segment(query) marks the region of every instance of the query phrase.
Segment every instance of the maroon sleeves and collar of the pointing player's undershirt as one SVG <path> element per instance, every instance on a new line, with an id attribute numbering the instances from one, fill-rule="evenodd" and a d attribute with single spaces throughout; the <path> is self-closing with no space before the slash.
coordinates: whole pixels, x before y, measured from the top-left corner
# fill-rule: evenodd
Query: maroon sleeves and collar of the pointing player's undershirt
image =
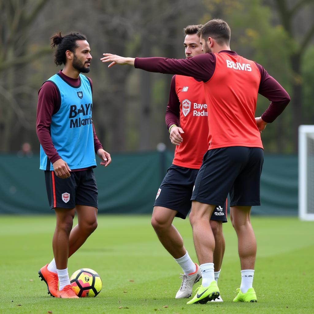
<path id="1" fill-rule="evenodd" d="M 237 56 L 235 51 L 223 50 L 231 56 Z M 284 110 L 290 101 L 288 93 L 284 88 L 272 77 L 267 71 L 258 63 L 255 62 L 261 74 L 261 81 L 259 84 L 258 93 L 268 98 L 271 101 L 267 110 L 263 113 L 262 119 L 265 122 L 273 122 Z M 195 79 L 200 79 L 203 82 L 208 82 L 214 74 L 216 67 L 216 57 L 213 53 L 205 53 L 193 58 L 187 59 L 168 59 L 161 57 L 152 58 L 135 58 L 135 68 L 140 68 L 149 72 L 159 72 L 166 74 L 181 74 L 192 76 Z M 171 109 L 167 108 L 167 126 L 168 117 L 171 118 Z M 175 124 L 175 123 L 172 123 Z"/>

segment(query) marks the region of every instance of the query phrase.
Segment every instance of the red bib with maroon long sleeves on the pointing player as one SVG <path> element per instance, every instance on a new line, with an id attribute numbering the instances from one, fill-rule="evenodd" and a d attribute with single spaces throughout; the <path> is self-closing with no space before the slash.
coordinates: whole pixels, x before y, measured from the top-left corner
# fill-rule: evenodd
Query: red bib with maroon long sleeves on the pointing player
<path id="1" fill-rule="evenodd" d="M 192 76 L 204 82 L 208 104 L 209 149 L 229 146 L 263 148 L 254 111 L 257 93 L 271 103 L 263 113 L 273 122 L 290 101 L 284 88 L 258 63 L 235 51 L 204 53 L 187 59 L 135 58 L 135 68 Z"/>

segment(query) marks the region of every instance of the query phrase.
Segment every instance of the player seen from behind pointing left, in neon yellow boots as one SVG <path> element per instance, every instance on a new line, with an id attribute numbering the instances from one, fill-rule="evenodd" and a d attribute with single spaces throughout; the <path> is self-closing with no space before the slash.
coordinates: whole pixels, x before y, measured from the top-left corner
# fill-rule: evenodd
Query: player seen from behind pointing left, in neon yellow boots
<path id="1" fill-rule="evenodd" d="M 208 105 L 208 151 L 192 193 L 190 222 L 202 284 L 187 304 L 215 299 L 219 288 L 214 280 L 215 240 L 209 217 L 230 193 L 230 217 L 238 236 L 241 286 L 234 302 L 257 302 L 252 287 L 256 239 L 250 222 L 252 206 L 260 205 L 260 176 L 263 166 L 261 132 L 288 105 L 283 87 L 259 64 L 230 50 L 230 27 L 213 19 L 198 32 L 205 54 L 189 59 L 125 58 L 105 53 L 101 60 L 134 65 L 146 71 L 192 76 L 203 81 Z M 255 118 L 257 94 L 271 103 Z M 214 205 L 215 204 L 215 205 Z"/>

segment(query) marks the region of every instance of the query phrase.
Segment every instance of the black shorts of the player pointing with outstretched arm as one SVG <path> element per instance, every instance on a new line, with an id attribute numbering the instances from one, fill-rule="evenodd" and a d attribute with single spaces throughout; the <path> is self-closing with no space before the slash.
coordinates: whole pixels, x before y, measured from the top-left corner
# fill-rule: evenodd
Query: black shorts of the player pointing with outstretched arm
<path id="1" fill-rule="evenodd" d="M 232 146 L 210 149 L 195 180 L 192 200 L 222 206 L 228 193 L 231 206 L 258 206 L 264 151 Z"/>

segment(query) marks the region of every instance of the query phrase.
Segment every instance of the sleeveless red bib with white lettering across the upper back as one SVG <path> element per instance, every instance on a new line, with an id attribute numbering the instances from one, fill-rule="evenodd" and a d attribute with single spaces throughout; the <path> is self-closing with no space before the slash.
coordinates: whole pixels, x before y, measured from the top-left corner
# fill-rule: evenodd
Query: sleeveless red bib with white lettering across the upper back
<path id="1" fill-rule="evenodd" d="M 254 61 L 225 52 L 215 53 L 213 76 L 204 83 L 209 103 L 208 149 L 229 146 L 263 148 L 255 122 L 261 74 Z"/>

